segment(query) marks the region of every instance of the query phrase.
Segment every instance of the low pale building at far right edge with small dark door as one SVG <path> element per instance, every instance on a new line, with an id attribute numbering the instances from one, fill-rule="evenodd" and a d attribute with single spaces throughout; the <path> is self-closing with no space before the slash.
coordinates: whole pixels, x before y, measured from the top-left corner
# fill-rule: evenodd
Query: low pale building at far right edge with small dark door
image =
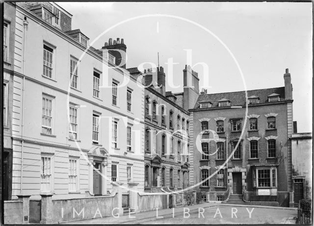
<path id="1" fill-rule="evenodd" d="M 312 199 L 312 133 L 293 133 L 290 137 L 292 151 L 292 187 L 294 203 Z"/>

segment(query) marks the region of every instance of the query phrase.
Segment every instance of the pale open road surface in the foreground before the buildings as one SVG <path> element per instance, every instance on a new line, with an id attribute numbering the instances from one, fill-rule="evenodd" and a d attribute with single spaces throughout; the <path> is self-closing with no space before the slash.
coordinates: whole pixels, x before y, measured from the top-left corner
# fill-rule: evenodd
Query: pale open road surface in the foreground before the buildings
<path id="1" fill-rule="evenodd" d="M 295 224 L 296 217 L 297 208 L 204 202 L 63 224 Z"/>

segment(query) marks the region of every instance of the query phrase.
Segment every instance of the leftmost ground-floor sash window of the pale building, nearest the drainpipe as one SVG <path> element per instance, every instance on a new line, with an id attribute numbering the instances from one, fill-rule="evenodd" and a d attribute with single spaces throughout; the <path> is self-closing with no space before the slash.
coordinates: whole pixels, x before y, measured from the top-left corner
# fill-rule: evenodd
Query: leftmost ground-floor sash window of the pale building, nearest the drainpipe
<path id="1" fill-rule="evenodd" d="M 47 184 L 49 184 L 49 189 Z M 40 157 L 40 191 L 53 191 L 53 155 L 42 154 Z"/>

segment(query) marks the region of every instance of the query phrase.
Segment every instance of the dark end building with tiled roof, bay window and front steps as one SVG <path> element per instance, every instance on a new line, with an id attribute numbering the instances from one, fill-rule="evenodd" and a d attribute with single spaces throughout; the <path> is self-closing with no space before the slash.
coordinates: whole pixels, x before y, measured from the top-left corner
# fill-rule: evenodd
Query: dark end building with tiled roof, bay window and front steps
<path id="1" fill-rule="evenodd" d="M 292 86 L 288 69 L 285 87 L 207 94 L 194 109 L 194 184 L 201 191 L 292 190 Z M 247 114 L 246 114 L 247 110 Z"/>

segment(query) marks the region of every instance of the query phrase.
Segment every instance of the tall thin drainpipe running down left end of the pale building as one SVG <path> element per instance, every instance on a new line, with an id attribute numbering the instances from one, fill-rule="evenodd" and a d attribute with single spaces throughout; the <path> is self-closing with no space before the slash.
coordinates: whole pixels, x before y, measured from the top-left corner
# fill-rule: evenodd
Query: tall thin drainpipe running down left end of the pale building
<path id="1" fill-rule="evenodd" d="M 21 185 L 20 185 L 20 193 L 23 193 L 23 157 L 24 157 L 24 103 L 25 103 L 25 55 L 26 55 L 26 30 L 28 26 L 28 21 L 26 20 L 26 17 L 24 17 L 23 21 L 24 25 L 24 48 L 23 48 L 23 87 L 22 87 L 22 131 L 21 131 L 21 137 L 22 137 L 22 147 L 21 147 Z"/>

